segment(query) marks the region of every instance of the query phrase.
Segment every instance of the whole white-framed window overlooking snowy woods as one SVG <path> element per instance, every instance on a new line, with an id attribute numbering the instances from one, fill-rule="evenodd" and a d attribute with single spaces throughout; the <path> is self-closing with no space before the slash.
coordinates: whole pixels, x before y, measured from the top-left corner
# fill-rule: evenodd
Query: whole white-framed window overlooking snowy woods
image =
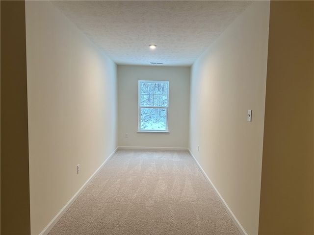
<path id="1" fill-rule="evenodd" d="M 138 131 L 168 131 L 168 81 L 138 81 Z"/>

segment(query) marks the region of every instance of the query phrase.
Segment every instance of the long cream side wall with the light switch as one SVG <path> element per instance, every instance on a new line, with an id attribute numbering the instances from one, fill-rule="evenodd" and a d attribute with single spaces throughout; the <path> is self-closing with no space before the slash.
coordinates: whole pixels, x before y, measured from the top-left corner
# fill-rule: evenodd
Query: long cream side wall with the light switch
<path id="1" fill-rule="evenodd" d="M 259 223 L 268 27 L 269 1 L 253 2 L 191 67 L 189 149 L 248 234 Z"/>

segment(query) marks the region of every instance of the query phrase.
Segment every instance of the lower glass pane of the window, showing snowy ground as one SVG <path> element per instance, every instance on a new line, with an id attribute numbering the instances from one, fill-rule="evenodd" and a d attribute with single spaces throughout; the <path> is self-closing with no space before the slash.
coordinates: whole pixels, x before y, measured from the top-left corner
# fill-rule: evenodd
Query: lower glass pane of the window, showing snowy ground
<path id="1" fill-rule="evenodd" d="M 166 109 L 141 108 L 141 130 L 166 130 Z"/>

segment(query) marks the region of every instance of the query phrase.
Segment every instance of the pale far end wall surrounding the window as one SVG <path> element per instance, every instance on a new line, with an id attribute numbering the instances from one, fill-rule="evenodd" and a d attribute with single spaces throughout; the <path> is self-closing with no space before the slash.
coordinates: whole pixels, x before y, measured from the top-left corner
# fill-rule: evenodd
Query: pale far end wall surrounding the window
<path id="1" fill-rule="evenodd" d="M 138 80 L 169 81 L 170 134 L 137 133 Z M 118 145 L 187 148 L 189 86 L 190 67 L 118 65 Z"/>

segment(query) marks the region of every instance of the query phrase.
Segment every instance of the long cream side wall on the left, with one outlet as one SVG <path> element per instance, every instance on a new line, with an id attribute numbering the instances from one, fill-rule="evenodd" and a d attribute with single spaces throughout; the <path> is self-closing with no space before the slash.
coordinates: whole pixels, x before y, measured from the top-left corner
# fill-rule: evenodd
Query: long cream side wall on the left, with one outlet
<path id="1" fill-rule="evenodd" d="M 31 234 L 39 234 L 117 146 L 116 65 L 50 1 L 26 1 L 26 54 Z"/>

